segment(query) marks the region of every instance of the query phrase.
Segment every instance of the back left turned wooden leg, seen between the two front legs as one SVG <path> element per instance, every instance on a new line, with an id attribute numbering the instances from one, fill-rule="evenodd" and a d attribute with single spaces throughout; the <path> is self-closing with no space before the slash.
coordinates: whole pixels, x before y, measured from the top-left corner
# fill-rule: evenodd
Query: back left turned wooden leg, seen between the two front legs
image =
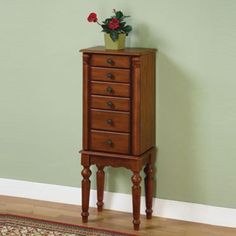
<path id="1" fill-rule="evenodd" d="M 102 211 L 103 208 L 103 194 L 104 194 L 104 176 L 105 173 L 103 171 L 104 166 L 97 165 L 97 207 L 98 211 Z"/>

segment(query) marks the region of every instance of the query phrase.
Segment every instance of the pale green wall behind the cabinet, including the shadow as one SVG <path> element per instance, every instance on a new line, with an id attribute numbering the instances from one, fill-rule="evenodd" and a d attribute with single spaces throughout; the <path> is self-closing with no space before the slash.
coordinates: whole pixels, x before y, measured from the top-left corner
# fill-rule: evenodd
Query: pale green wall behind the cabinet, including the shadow
<path id="1" fill-rule="evenodd" d="M 155 195 L 236 208 L 235 0 L 0 0 L 0 177 L 80 186 L 78 51 L 103 44 L 88 13 L 113 8 L 128 46 L 159 49 Z M 108 168 L 107 190 L 130 176 Z"/>

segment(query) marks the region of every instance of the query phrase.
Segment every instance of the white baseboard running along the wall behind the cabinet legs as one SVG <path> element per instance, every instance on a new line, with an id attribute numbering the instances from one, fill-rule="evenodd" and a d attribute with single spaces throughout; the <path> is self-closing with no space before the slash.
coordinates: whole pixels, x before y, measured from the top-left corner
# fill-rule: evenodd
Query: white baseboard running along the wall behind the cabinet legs
<path id="1" fill-rule="evenodd" d="M 0 178 L 0 195 L 81 205 L 81 189 L 53 184 L 34 183 Z M 104 207 L 132 212 L 131 195 L 104 193 Z M 90 206 L 96 207 L 96 191 L 91 190 Z M 141 214 L 145 200 L 141 198 Z M 236 228 L 236 209 L 154 198 L 153 215 L 177 220 Z"/>

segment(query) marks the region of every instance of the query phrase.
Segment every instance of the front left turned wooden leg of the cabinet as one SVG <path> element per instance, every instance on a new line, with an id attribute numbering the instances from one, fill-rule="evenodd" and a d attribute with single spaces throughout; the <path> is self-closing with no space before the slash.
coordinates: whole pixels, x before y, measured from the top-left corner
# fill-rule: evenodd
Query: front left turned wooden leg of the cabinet
<path id="1" fill-rule="evenodd" d="M 89 177 L 91 175 L 91 170 L 89 166 L 84 166 L 84 169 L 81 172 L 83 176 L 82 180 L 82 221 L 84 223 L 88 222 L 88 208 L 89 208 L 89 194 L 90 194 L 90 180 Z"/>

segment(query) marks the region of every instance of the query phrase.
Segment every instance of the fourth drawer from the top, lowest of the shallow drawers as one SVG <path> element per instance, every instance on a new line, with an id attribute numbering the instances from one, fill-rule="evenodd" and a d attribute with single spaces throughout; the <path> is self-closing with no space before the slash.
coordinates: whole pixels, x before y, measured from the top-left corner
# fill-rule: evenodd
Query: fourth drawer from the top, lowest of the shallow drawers
<path id="1" fill-rule="evenodd" d="M 130 111 L 130 99 L 91 95 L 90 107 L 114 111 Z"/>

